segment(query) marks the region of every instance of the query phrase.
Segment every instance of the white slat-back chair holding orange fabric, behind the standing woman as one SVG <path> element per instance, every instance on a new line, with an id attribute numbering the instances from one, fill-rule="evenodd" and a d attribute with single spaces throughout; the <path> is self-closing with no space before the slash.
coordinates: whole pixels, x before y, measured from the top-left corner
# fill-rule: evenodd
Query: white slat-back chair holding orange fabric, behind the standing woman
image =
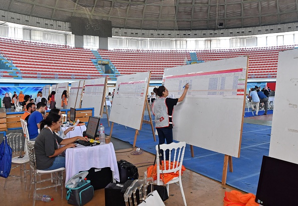
<path id="1" fill-rule="evenodd" d="M 180 191 L 182 194 L 182 198 L 183 198 L 183 202 L 184 205 L 186 204 L 186 199 L 185 199 L 185 195 L 184 195 L 184 191 L 183 191 L 183 187 L 182 187 L 182 180 L 181 180 L 181 169 L 182 169 L 182 163 L 183 163 L 183 158 L 184 158 L 184 151 L 185 151 L 185 146 L 186 146 L 186 142 L 182 141 L 182 142 L 172 142 L 170 144 L 160 144 L 160 148 L 161 150 L 163 150 L 164 153 L 164 157 L 165 159 L 162 160 L 163 165 L 166 165 L 166 150 L 169 150 L 169 159 L 171 159 L 171 161 L 173 162 L 173 165 L 169 164 L 169 166 L 165 166 L 165 168 L 162 170 L 160 167 L 160 157 L 159 157 L 159 147 L 158 145 L 156 145 L 156 151 L 157 151 L 157 158 L 156 158 L 156 162 L 157 162 L 157 180 L 154 181 L 154 183 L 157 183 L 158 185 L 163 185 L 164 182 L 163 180 L 160 178 L 160 175 L 162 173 L 170 173 L 170 172 L 179 172 L 179 176 L 178 177 L 174 177 L 172 180 L 170 180 L 166 185 L 167 185 L 167 190 L 168 190 L 168 195 L 169 195 L 169 184 L 171 183 L 176 183 L 179 181 L 179 187 L 180 187 Z M 174 151 L 173 151 L 174 150 Z M 179 163 L 179 165 L 178 165 Z M 147 171 L 145 171 L 145 178 L 147 178 Z"/>

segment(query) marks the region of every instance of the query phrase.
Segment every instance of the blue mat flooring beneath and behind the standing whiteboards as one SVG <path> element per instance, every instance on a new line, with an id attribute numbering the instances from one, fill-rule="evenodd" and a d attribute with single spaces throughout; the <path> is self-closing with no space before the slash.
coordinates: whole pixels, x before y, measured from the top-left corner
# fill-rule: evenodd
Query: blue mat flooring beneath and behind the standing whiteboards
<path id="1" fill-rule="evenodd" d="M 105 133 L 110 134 L 107 119 L 102 118 Z M 133 144 L 135 129 L 114 123 L 112 136 Z M 243 123 L 240 158 L 232 157 L 233 172 L 227 173 L 227 184 L 245 192 L 256 193 L 263 155 L 269 154 L 271 126 Z M 136 146 L 155 154 L 158 144 L 153 139 L 151 126 L 143 124 L 136 139 Z M 183 164 L 186 168 L 221 182 L 224 154 L 194 146 L 191 157 L 190 145 L 185 149 Z M 154 157 L 152 159 L 154 161 Z"/>

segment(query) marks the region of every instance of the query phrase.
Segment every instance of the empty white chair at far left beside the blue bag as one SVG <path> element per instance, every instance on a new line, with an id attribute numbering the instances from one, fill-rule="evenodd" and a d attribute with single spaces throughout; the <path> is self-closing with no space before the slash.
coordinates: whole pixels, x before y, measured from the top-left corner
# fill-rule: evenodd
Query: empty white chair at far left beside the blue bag
<path id="1" fill-rule="evenodd" d="M 27 191 L 27 182 L 26 182 L 27 178 L 26 177 L 30 170 L 26 169 L 26 163 L 29 162 L 29 156 L 25 155 L 22 158 L 19 158 L 19 156 L 22 156 L 22 133 L 9 133 L 7 135 L 7 141 L 13 150 L 12 169 L 20 167 L 20 175 L 10 174 L 5 180 L 4 189 L 6 189 L 7 181 L 9 179 L 9 177 L 21 178 L 21 181 L 23 181 L 23 177 L 24 177 L 25 190 Z M 23 176 L 23 174 L 24 174 L 24 176 Z"/>

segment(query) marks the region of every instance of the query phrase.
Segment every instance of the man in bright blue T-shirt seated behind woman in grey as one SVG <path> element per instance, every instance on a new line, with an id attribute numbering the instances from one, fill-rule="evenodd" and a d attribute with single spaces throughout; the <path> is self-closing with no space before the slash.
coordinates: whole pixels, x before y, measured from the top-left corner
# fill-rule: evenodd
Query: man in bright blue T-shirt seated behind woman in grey
<path id="1" fill-rule="evenodd" d="M 38 135 L 38 129 L 40 128 L 40 122 L 44 119 L 42 113 L 46 110 L 46 104 L 38 102 L 36 105 L 36 111 L 32 112 L 28 118 L 27 126 L 30 140 L 35 140 Z"/>

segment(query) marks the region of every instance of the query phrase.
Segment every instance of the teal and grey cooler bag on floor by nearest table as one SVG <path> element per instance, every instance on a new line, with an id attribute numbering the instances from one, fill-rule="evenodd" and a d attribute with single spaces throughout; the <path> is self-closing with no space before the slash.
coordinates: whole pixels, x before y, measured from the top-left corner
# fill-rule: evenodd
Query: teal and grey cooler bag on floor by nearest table
<path id="1" fill-rule="evenodd" d="M 72 205 L 81 206 L 90 201 L 94 195 L 93 186 L 90 183 L 90 180 L 87 180 L 85 184 L 79 187 L 75 187 L 76 183 L 79 182 L 79 177 L 81 176 L 84 179 L 88 174 L 88 171 L 82 171 L 71 177 L 66 183 L 66 200 L 67 203 Z"/>

